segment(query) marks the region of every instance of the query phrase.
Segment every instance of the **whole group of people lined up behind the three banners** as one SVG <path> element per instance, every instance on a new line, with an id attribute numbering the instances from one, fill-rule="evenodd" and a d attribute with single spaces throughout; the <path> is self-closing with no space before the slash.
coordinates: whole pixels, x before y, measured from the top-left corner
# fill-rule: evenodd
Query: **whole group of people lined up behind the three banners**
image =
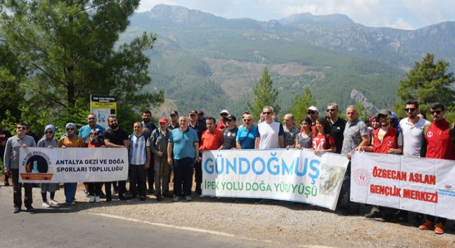
<path id="1" fill-rule="evenodd" d="M 430 106 L 432 121 L 418 116 L 418 102 L 408 101 L 405 105 L 407 118 L 401 121 L 390 112 L 381 110 L 374 114 L 369 124 L 358 118 L 356 107 L 348 106 L 345 111 L 347 121 L 339 116 L 338 105 L 327 104 L 325 117 L 319 116 L 315 106 L 307 108 L 307 117 L 300 120 L 300 128 L 292 114 L 285 114 L 283 123 L 276 121 L 274 109 L 263 107 L 261 118 L 254 125 L 254 117 L 249 112 L 241 116 L 241 125 L 236 117 L 222 110 L 219 122 L 214 117 L 207 117 L 203 112 L 192 110 L 188 116 L 179 116 L 176 110 L 168 118 L 160 118 L 157 127 L 152 123 L 152 113 L 145 110 L 142 122 L 133 125 L 133 134 L 119 127 L 117 117 L 108 118 L 109 129 L 97 125 L 97 117 L 88 115 L 88 124 L 81 127 L 76 135 L 74 123 L 65 126 L 66 133 L 61 138 L 54 138 L 55 127 L 45 127 L 44 135 L 38 141 L 38 147 L 119 147 L 129 149 L 130 196 L 125 196 L 126 182 L 114 184 L 119 200 L 136 198 L 146 199 L 148 191 L 156 194 L 156 200 L 172 197 L 173 201 L 192 200 L 193 173 L 196 194 L 201 196 L 202 168 L 201 156 L 204 151 L 216 149 L 275 149 L 298 148 L 313 149 L 314 153 L 335 152 L 345 154 L 351 159 L 352 152 L 377 152 L 385 154 L 403 154 L 427 158 L 455 160 L 454 125 L 445 120 L 445 107 L 441 103 Z M 240 123 L 239 123 L 240 124 Z M 19 147 L 34 147 L 33 138 L 26 135 L 25 123 L 18 123 L 17 135 L 8 138 L 5 145 L 5 174 L 12 176 L 14 187 L 14 213 L 21 211 L 21 187 L 19 187 Z M 0 136 L 1 138 L 1 136 Z M 2 141 L 3 144 L 3 141 Z M 173 170 L 174 192 L 170 192 L 169 183 Z M 350 202 L 350 165 L 347 167 L 338 209 L 345 214 L 358 214 L 360 204 Z M 115 183 L 115 182 L 112 182 Z M 105 182 L 106 201 L 112 200 L 111 182 Z M 85 183 L 88 188 L 89 202 L 99 202 L 103 183 Z M 74 205 L 77 183 L 64 183 L 65 204 Z M 33 211 L 32 191 L 24 183 L 26 191 L 24 204 L 27 211 Z M 42 183 L 41 194 L 43 207 L 56 206 L 54 200 L 58 184 Z M 50 192 L 50 201 L 46 198 Z M 203 196 L 201 196 L 203 197 Z M 395 211 L 385 207 L 372 206 L 366 218 L 381 220 L 407 220 L 406 211 Z M 444 233 L 444 218 L 425 216 L 420 229 L 434 229 L 436 234 Z"/>

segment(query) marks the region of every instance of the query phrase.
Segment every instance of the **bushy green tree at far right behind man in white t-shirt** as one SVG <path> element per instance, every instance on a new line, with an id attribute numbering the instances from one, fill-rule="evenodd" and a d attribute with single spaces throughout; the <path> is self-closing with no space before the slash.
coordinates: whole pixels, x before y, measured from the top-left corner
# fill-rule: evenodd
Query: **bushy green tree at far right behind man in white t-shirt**
<path id="1" fill-rule="evenodd" d="M 447 73 L 449 63 L 439 59 L 434 63 L 434 54 L 427 53 L 422 62 L 416 62 L 407 72 L 407 79 L 401 81 L 396 95 L 401 99 L 394 109 L 399 116 L 404 116 L 404 105 L 408 100 L 416 100 L 420 109 L 429 110 L 429 105 L 440 102 L 451 110 L 454 106 L 455 92 L 450 84 L 455 81 L 452 72 Z"/>

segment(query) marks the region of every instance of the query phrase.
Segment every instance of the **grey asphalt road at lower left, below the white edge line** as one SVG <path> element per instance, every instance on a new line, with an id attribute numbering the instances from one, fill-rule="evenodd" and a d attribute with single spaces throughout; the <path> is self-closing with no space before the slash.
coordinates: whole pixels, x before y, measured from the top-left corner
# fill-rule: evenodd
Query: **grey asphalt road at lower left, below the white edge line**
<path id="1" fill-rule="evenodd" d="M 1 189 L 0 189 L 1 190 Z M 34 203 L 38 207 L 39 203 Z M 41 206 L 40 206 L 41 207 Z M 0 198 L 0 247 L 268 247 L 210 230 L 157 226 L 73 211 L 35 209 L 12 214 L 11 198 Z M 25 207 L 23 207 L 25 209 Z"/>

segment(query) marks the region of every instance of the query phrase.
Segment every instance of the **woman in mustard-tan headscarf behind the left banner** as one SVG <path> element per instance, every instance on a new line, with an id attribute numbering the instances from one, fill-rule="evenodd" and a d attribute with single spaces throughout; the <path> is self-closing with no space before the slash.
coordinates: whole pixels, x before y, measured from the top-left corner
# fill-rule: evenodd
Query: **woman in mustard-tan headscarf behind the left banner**
<path id="1" fill-rule="evenodd" d="M 76 125 L 74 123 L 68 123 L 65 125 L 66 134 L 64 134 L 59 140 L 59 147 L 83 147 L 83 140 L 81 136 L 76 135 Z M 65 187 L 65 205 L 75 205 L 77 183 L 63 183 Z"/>

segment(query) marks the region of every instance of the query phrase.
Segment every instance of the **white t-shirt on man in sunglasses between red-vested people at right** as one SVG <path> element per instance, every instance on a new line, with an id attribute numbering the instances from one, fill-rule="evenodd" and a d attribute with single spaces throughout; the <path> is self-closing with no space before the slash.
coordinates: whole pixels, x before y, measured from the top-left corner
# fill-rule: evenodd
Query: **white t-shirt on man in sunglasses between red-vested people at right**
<path id="1" fill-rule="evenodd" d="M 408 118 L 400 121 L 400 130 L 403 134 L 403 155 L 404 156 L 421 156 L 421 147 L 423 145 L 423 127 L 430 123 L 424 118 L 420 118 L 416 124 L 412 125 Z"/>

